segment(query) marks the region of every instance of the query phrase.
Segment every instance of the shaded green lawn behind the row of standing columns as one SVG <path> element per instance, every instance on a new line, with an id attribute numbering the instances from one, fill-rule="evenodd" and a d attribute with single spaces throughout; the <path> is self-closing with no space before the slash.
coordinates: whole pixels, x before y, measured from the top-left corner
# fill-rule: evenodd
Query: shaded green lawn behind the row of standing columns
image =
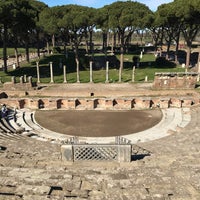
<path id="1" fill-rule="evenodd" d="M 99 55 L 98 55 L 99 56 Z M 134 54 L 125 54 L 124 55 L 124 69 L 122 72 L 122 81 L 131 82 L 132 81 L 132 69 L 133 69 L 133 56 Z M 103 58 L 103 55 L 101 54 Z M 112 60 L 109 69 L 109 82 L 115 83 L 118 82 L 119 76 L 119 58 L 120 55 L 116 55 Z M 90 81 L 90 71 L 89 71 L 89 59 L 85 59 L 85 56 L 81 59 L 84 63 L 80 63 L 80 82 L 87 83 Z M 105 59 L 104 59 L 105 60 Z M 63 68 L 60 67 L 60 62 L 63 65 L 67 66 L 67 82 L 75 83 L 76 80 L 76 65 L 74 61 L 74 54 L 72 52 L 68 53 L 66 58 L 63 54 L 55 54 L 46 56 L 40 59 L 40 81 L 41 83 L 50 82 L 50 67 L 49 63 L 53 62 L 53 73 L 54 73 L 54 82 L 62 83 L 63 82 Z M 104 63 L 105 64 L 105 63 Z M 106 80 L 106 70 L 103 66 L 103 62 L 100 63 L 100 68 L 95 68 L 93 70 L 93 82 L 94 83 L 104 83 Z M 144 81 L 145 76 L 148 76 L 149 81 L 153 81 L 155 72 L 183 72 L 184 69 L 180 66 L 175 66 L 173 63 L 169 62 L 169 66 L 157 66 L 155 62 L 155 57 L 153 54 L 144 54 L 143 58 L 140 59 L 140 66 L 135 70 L 135 81 L 140 82 Z M 32 76 L 33 81 L 37 81 L 37 70 L 36 70 L 36 61 L 31 61 L 29 64 L 24 64 L 16 70 L 8 69 L 7 73 L 0 71 L 0 77 L 2 82 L 11 81 L 12 76 Z"/>

